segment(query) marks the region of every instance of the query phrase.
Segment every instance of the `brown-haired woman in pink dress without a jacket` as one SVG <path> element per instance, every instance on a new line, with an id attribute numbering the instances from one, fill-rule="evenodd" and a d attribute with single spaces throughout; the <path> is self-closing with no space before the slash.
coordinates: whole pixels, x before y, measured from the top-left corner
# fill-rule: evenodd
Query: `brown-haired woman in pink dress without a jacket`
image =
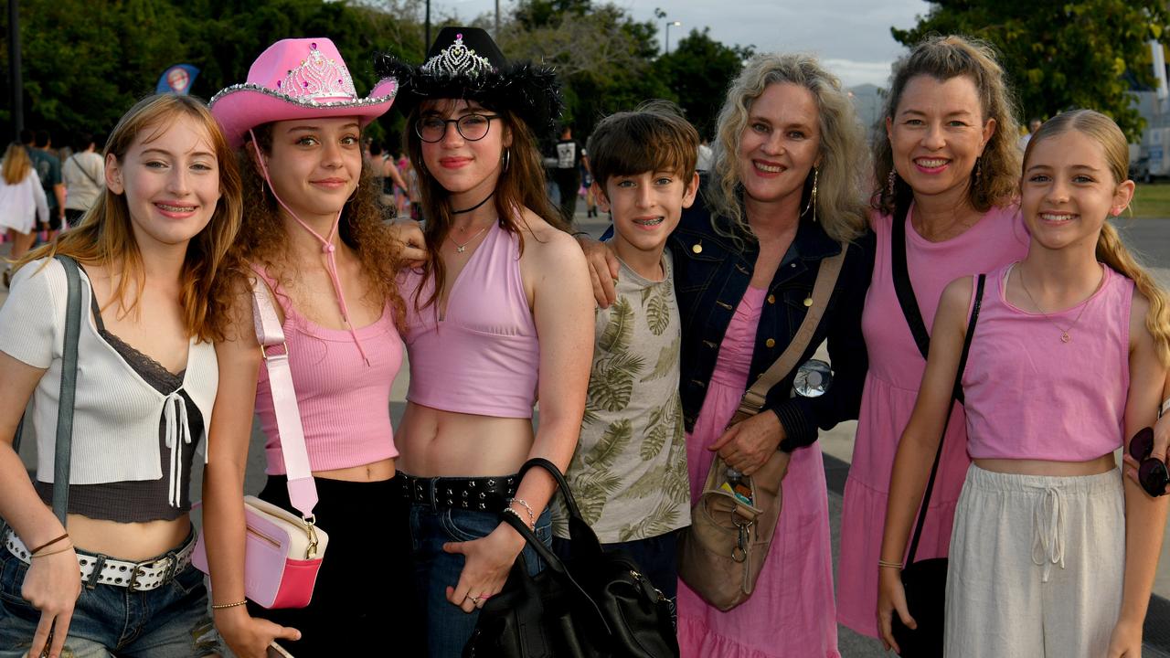
<path id="1" fill-rule="evenodd" d="M 1028 244 L 1013 199 L 1019 129 L 989 47 L 958 36 L 920 43 L 895 64 L 886 133 L 888 139 L 874 145 L 874 179 L 886 185 L 874 194 L 870 213 L 878 251 L 862 314 L 869 373 L 845 486 L 838 564 L 838 621 L 875 638 L 890 471 L 925 368 L 894 292 L 894 217 L 906 218 L 907 269 L 928 333 L 948 282 L 1019 260 Z M 917 560 L 947 556 L 970 462 L 965 427 L 956 404 Z"/>

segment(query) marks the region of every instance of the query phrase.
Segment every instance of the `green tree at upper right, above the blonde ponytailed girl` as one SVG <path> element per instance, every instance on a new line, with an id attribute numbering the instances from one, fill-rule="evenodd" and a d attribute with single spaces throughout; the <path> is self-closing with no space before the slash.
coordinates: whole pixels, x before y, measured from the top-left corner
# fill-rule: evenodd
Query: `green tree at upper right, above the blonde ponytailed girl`
<path id="1" fill-rule="evenodd" d="M 1131 139 L 1144 121 L 1131 104 L 1131 76 L 1152 84 L 1151 39 L 1164 40 L 1165 0 L 942 0 L 910 29 L 890 28 L 913 46 L 931 33 L 984 39 L 1003 55 L 1021 119 L 1079 107 L 1102 111 Z"/>

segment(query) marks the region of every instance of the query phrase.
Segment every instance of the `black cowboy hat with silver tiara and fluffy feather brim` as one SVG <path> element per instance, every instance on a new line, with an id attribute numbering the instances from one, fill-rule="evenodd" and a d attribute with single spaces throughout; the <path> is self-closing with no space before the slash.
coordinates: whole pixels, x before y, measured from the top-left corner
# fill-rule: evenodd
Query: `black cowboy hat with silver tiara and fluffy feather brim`
<path id="1" fill-rule="evenodd" d="M 386 54 L 374 56 L 374 70 L 398 81 L 394 107 L 410 115 L 427 98 L 467 98 L 491 110 L 510 110 L 538 136 L 550 130 L 564 109 L 560 83 L 549 67 L 509 63 L 491 36 L 477 27 L 445 27 L 422 66 Z"/>

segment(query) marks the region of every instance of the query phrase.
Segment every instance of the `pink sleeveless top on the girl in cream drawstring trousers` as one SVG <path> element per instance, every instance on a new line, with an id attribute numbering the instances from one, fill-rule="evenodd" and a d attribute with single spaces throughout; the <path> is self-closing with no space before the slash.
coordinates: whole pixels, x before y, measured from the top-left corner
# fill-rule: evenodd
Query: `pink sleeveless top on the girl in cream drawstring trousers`
<path id="1" fill-rule="evenodd" d="M 1045 317 L 1007 302 L 1012 267 L 987 275 L 963 376 L 968 452 L 972 459 L 1048 461 L 1113 452 L 1124 438 L 1134 282 L 1103 267 L 1093 296 Z M 1072 340 L 1061 342 L 1061 329 L 1082 308 L 1068 330 Z"/>

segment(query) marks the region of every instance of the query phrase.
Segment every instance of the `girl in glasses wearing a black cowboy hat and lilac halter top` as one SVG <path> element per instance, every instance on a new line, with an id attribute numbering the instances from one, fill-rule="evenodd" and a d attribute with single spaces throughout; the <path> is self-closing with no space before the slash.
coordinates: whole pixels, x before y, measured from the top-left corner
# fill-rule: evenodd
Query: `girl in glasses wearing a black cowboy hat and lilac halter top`
<path id="1" fill-rule="evenodd" d="M 553 225 L 534 131 L 559 110 L 551 73 L 509 66 L 482 29 L 445 28 L 404 81 L 431 260 L 404 276 L 411 359 L 398 429 L 431 656 L 459 656 L 524 540 L 551 542 L 543 457 L 564 469 L 585 406 L 593 302 L 580 248 Z M 550 219 L 545 219 L 550 218 Z M 532 405 L 541 418 L 532 431 Z M 538 566 L 525 549 L 525 563 Z"/>

